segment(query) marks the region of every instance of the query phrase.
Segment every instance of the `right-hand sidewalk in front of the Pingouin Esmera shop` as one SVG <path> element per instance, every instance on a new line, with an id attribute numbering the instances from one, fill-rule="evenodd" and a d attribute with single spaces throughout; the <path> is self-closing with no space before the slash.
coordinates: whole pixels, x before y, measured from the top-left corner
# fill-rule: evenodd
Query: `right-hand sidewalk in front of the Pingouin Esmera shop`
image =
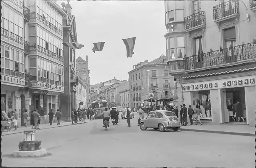
<path id="1" fill-rule="evenodd" d="M 144 113 L 145 117 L 147 116 Z M 202 125 L 190 125 L 188 121 L 187 126 L 181 126 L 181 131 L 194 131 L 203 133 L 219 133 L 219 134 L 229 134 L 229 135 L 243 135 L 255 137 L 255 127 L 249 127 L 249 125 L 236 125 L 236 124 L 219 124 L 215 125 L 213 123 L 202 123 Z"/>

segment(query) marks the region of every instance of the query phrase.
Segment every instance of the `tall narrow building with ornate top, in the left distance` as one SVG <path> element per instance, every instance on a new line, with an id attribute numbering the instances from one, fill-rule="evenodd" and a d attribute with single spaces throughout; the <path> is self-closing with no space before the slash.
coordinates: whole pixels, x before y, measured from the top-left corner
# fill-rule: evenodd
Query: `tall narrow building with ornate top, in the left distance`
<path id="1" fill-rule="evenodd" d="M 86 102 L 87 105 L 90 105 L 90 99 L 89 99 L 89 95 L 90 95 L 90 70 L 88 68 L 88 56 L 86 55 L 86 60 L 82 59 L 81 57 L 78 57 L 76 59 L 76 72 L 78 73 L 78 75 L 80 76 L 80 78 L 82 78 L 82 82 L 86 85 L 86 87 L 88 87 L 88 89 L 86 89 L 86 100 L 88 100 L 88 102 Z"/>

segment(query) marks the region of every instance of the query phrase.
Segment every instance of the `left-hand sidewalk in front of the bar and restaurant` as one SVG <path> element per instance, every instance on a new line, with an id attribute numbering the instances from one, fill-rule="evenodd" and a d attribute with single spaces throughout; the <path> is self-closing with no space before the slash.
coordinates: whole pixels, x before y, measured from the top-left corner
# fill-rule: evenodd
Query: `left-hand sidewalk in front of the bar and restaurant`
<path id="1" fill-rule="evenodd" d="M 90 122 L 90 119 L 86 119 L 85 122 L 79 122 L 78 121 L 78 124 L 83 124 L 83 123 L 88 123 Z M 42 129 L 50 129 L 50 128 L 56 128 L 56 127 L 65 127 L 65 126 L 68 126 L 68 125 L 75 125 L 75 124 L 72 124 L 71 122 L 61 122 L 60 125 L 57 125 L 57 123 L 52 123 L 52 125 L 50 124 L 42 124 L 42 125 L 39 125 L 39 128 L 37 131 L 40 131 Z M 1 136 L 5 136 L 5 135 L 12 135 L 12 134 L 17 134 L 17 133 L 23 133 L 23 131 L 29 131 L 29 130 L 35 130 L 35 129 L 31 129 L 31 126 L 28 126 L 27 128 L 26 127 L 19 127 L 16 131 L 14 131 L 14 129 L 12 129 L 12 131 L 6 131 L 6 129 L 4 131 L 2 131 L 2 135 Z"/>

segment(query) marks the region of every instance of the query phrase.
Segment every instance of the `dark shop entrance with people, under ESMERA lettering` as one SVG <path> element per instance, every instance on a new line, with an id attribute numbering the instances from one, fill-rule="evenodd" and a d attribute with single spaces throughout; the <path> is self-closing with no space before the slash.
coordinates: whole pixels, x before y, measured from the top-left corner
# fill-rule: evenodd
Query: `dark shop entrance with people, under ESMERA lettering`
<path id="1" fill-rule="evenodd" d="M 228 123 L 246 124 L 246 105 L 244 87 L 227 88 L 226 105 L 228 110 Z"/>

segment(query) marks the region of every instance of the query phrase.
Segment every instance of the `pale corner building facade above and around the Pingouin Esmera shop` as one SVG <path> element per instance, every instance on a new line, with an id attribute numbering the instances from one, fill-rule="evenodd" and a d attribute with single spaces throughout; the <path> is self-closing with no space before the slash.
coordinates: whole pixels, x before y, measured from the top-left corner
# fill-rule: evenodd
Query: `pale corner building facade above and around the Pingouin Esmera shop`
<path id="1" fill-rule="evenodd" d="M 181 22 L 166 20 L 167 28 L 184 24 L 177 30 L 186 46 L 182 57 L 170 52 L 180 46 L 176 32 L 165 35 L 170 75 L 180 84 L 179 105 L 199 105 L 202 121 L 219 124 L 232 121 L 229 111 L 239 102 L 243 124 L 255 126 L 255 2 L 166 1 L 165 8 L 167 18 L 176 10 L 184 16 Z"/>

